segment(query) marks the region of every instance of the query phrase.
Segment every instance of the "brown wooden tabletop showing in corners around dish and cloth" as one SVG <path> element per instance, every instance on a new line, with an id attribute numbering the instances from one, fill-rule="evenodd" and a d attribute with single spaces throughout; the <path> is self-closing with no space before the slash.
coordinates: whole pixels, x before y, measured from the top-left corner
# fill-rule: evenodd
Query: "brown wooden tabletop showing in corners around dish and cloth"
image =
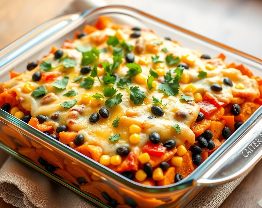
<path id="1" fill-rule="evenodd" d="M 1 0 L 0 1 L 0 49 L 34 29 L 41 23 L 55 17 L 73 0 Z M 245 177 L 220 208 L 260 207 L 262 198 L 262 161 Z M 0 198 L 1 208 L 13 208 Z"/>

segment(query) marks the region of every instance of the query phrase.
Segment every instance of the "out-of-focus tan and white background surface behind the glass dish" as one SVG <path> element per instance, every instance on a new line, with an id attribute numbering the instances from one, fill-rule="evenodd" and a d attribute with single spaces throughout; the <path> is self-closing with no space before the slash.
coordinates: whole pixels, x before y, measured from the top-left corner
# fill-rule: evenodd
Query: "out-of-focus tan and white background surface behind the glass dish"
<path id="1" fill-rule="evenodd" d="M 57 16 L 73 1 L 1 0 L 0 49 Z M 108 4 L 128 5 L 143 10 L 262 59 L 261 0 L 104 1 Z"/>

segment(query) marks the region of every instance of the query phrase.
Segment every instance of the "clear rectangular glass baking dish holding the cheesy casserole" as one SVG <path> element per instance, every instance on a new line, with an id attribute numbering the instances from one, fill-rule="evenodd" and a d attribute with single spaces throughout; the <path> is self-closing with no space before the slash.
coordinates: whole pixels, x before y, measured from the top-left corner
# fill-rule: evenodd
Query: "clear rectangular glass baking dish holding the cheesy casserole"
<path id="1" fill-rule="evenodd" d="M 226 55 L 228 63 L 243 63 L 255 75 L 262 76 L 262 60 L 258 58 L 139 10 L 123 6 L 108 6 L 57 17 L 1 50 L 0 83 L 9 80 L 10 69 L 14 68 L 17 72 L 23 72 L 28 61 L 41 59 L 43 55 L 49 53 L 51 45 L 61 46 L 66 38 L 73 38 L 75 30 L 83 29 L 86 24 L 92 25 L 99 16 L 108 16 L 119 24 L 152 29 L 161 36 L 170 36 L 172 39 L 178 40 L 184 47 L 199 49 L 212 57 L 222 52 Z M 120 203 L 117 205 L 118 208 L 128 208 L 129 206 L 126 205 L 128 198 L 135 200 L 138 207 L 186 207 L 193 202 L 204 187 L 219 185 L 236 179 L 259 161 L 262 157 L 261 114 L 262 108 L 259 108 L 192 174 L 182 181 L 168 186 L 146 186 L 131 181 L 68 146 L 50 139 L 46 134 L 2 109 L 0 110 L 0 140 L 4 141 L 6 145 L 0 142 L 0 147 L 102 207 L 110 207 L 110 205 L 105 198 L 101 197 L 101 192 L 106 192 L 111 198 L 116 199 Z M 32 144 L 34 144 L 34 147 L 45 149 L 58 163 L 63 161 L 67 167 L 74 167 L 76 170 L 74 169 L 73 174 L 80 174 L 79 176 L 82 174 L 86 180 L 92 181 L 91 185 L 89 186 L 89 183 L 86 183 L 85 187 L 81 185 L 79 187 L 73 179 L 70 181 L 66 175 L 48 173 L 44 166 L 37 162 L 32 152 L 26 152 L 29 147 L 34 150 Z M 25 151 L 19 152 L 17 146 L 25 147 Z M 26 155 L 26 157 L 23 155 Z M 62 168 L 67 169 L 63 165 Z"/>

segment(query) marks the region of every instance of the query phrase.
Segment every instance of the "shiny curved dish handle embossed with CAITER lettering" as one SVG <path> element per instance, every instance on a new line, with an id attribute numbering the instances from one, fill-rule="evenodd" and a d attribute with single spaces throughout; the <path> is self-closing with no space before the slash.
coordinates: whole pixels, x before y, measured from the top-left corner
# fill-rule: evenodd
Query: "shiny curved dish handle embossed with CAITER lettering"
<path id="1" fill-rule="evenodd" d="M 243 125 L 246 132 L 208 170 L 194 181 L 196 186 L 220 185 L 237 179 L 248 173 L 262 157 L 262 118 L 261 107 L 255 112 L 258 114 L 255 122 L 250 119 Z M 253 118 L 255 115 L 252 116 Z M 238 134 L 236 131 L 236 135 Z M 233 138 L 228 138 L 233 139 Z M 222 145 L 223 146 L 223 145 Z M 222 147 L 221 146 L 221 147 Z M 219 151 L 219 148 L 216 150 Z"/>

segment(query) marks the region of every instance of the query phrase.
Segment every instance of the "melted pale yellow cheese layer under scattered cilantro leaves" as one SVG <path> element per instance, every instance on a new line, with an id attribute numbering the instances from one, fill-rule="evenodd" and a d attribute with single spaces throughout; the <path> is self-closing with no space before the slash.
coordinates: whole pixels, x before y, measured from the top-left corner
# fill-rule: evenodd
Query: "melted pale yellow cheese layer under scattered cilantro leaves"
<path id="1" fill-rule="evenodd" d="M 106 28 L 102 31 L 95 31 L 87 36 L 82 37 L 81 39 L 76 39 L 73 41 L 73 46 L 95 46 L 97 49 L 106 48 L 107 52 L 101 52 L 99 59 L 95 62 L 109 62 L 113 63 L 113 55 L 112 55 L 112 47 L 108 46 L 106 43 L 108 35 L 115 35 L 116 31 L 110 28 Z M 129 38 L 130 34 L 133 33 L 128 27 L 124 27 L 122 29 L 123 39 L 125 39 L 129 44 L 135 46 L 137 38 Z M 144 84 L 138 84 L 135 82 L 134 78 L 133 84 L 131 86 L 139 86 L 140 90 L 144 91 L 146 94 L 146 99 L 144 100 L 144 104 L 135 105 L 132 101 L 130 101 L 129 92 L 125 89 L 117 88 L 117 93 L 122 93 L 122 103 L 119 105 L 115 105 L 113 108 L 108 108 L 105 106 L 106 99 L 102 99 L 102 104 L 100 106 L 92 106 L 90 103 L 83 105 L 81 103 L 81 96 L 88 92 L 91 95 L 95 93 L 102 94 L 102 90 L 105 88 L 104 85 L 101 85 L 97 78 L 95 78 L 94 85 L 85 90 L 84 88 L 79 87 L 79 82 L 73 82 L 73 79 L 78 77 L 81 69 L 81 59 L 82 53 L 77 51 L 76 49 L 62 49 L 63 57 L 68 55 L 69 58 L 73 58 L 77 61 L 77 66 L 72 68 L 64 68 L 63 66 L 53 69 L 53 71 L 61 73 L 61 75 L 57 78 L 57 80 L 64 78 L 64 76 L 69 77 L 69 82 L 66 86 L 65 90 L 58 90 L 53 87 L 53 82 L 55 80 L 48 81 L 36 81 L 32 80 L 32 75 L 41 71 L 39 66 L 31 71 L 26 71 L 20 76 L 5 82 L 2 87 L 7 89 L 9 92 L 15 91 L 17 93 L 17 100 L 20 101 L 21 106 L 27 111 L 31 112 L 33 117 L 37 115 L 46 115 L 48 116 L 48 121 L 45 122 L 47 125 L 52 125 L 54 129 L 56 129 L 60 125 L 67 125 L 70 131 L 76 131 L 78 134 L 83 134 L 85 137 L 84 144 L 97 145 L 102 148 L 103 154 L 114 155 L 116 154 L 116 149 L 119 146 L 127 146 L 130 149 L 137 148 L 140 149 L 145 145 L 145 143 L 149 139 L 149 134 L 151 132 L 157 132 L 161 135 L 161 143 L 165 142 L 168 139 L 174 139 L 176 141 L 176 145 L 184 145 L 184 142 L 187 140 L 191 144 L 195 142 L 195 135 L 190 129 L 190 126 L 196 120 L 199 113 L 199 106 L 194 102 L 186 102 L 185 100 L 181 100 L 181 94 L 194 96 L 192 92 L 184 92 L 185 87 L 188 84 L 193 84 L 197 91 L 204 95 L 206 92 L 209 92 L 211 96 L 216 97 L 218 100 L 230 103 L 233 97 L 237 97 L 239 93 L 247 93 L 249 96 L 249 100 L 254 100 L 259 97 L 258 84 L 254 79 L 250 79 L 245 75 L 242 75 L 241 72 L 234 68 L 227 68 L 226 64 L 218 58 L 205 60 L 201 59 L 201 53 L 199 51 L 193 51 L 187 48 L 181 47 L 179 44 L 174 43 L 169 40 L 165 40 L 158 35 L 148 32 L 141 31 L 141 38 L 145 40 L 146 46 L 153 44 L 154 41 L 159 40 L 162 41 L 160 45 L 154 45 L 155 52 L 150 52 L 149 48 L 146 47 L 146 51 L 143 54 L 135 54 L 135 61 L 138 63 L 139 58 L 148 58 L 148 65 L 141 65 L 142 74 L 146 77 L 149 76 L 149 69 L 156 68 L 156 64 L 151 61 L 151 56 L 155 54 L 159 55 L 160 60 L 165 60 L 166 53 L 162 51 L 162 48 L 166 48 L 169 53 L 172 53 L 175 57 L 182 57 L 182 55 L 187 54 L 195 59 L 194 65 L 190 66 L 189 69 L 184 69 L 184 74 L 188 75 L 188 81 L 180 82 L 180 90 L 176 96 L 167 96 L 165 93 L 159 90 L 152 89 L 148 90 L 146 82 Z M 119 69 L 115 70 L 114 73 L 118 75 L 118 79 L 124 77 L 128 71 L 126 67 L 127 62 L 124 57 L 122 58 L 123 62 L 120 64 Z M 52 67 L 59 66 L 61 63 L 58 63 L 58 60 L 54 58 L 53 54 L 49 54 L 44 57 L 41 62 L 46 61 L 52 64 Z M 93 67 L 95 63 L 90 64 L 90 67 Z M 213 64 L 216 68 L 214 70 L 207 70 L 205 65 L 207 63 Z M 176 69 L 177 65 L 168 66 L 166 61 L 163 62 L 165 67 L 165 73 L 168 70 L 173 72 Z M 207 78 L 200 79 L 198 78 L 199 71 L 204 71 L 207 73 Z M 88 75 L 87 75 L 88 76 Z M 223 83 L 223 78 L 228 77 L 233 82 L 233 87 L 227 86 Z M 102 80 L 103 76 L 100 77 Z M 163 77 L 158 78 L 157 80 L 157 88 L 161 85 L 163 81 Z M 48 93 L 53 92 L 52 96 L 57 96 L 57 100 L 53 102 L 42 104 L 42 97 L 33 98 L 30 93 L 24 93 L 22 88 L 26 82 L 30 82 L 35 85 L 35 88 L 40 86 L 45 86 Z M 245 89 L 238 90 L 235 88 L 235 85 L 238 83 L 242 83 L 245 86 Z M 212 91 L 210 86 L 212 84 L 220 84 L 223 88 L 221 92 Z M 111 86 L 111 85 L 108 85 Z M 113 85 L 112 85 L 113 86 Z M 63 94 L 68 92 L 70 89 L 75 90 L 78 94 L 74 97 L 65 97 Z M 158 99 L 162 99 L 163 103 L 168 103 L 166 106 L 161 106 L 164 111 L 164 116 L 158 117 L 151 120 L 149 116 L 155 116 L 151 112 L 152 105 L 156 105 L 152 103 L 152 97 L 156 97 Z M 77 103 L 71 109 L 65 109 L 61 106 L 61 103 L 68 100 L 76 99 Z M 110 112 L 109 118 L 100 117 L 97 123 L 90 123 L 89 117 L 94 112 L 99 112 L 100 107 L 105 106 Z M 75 109 L 75 110 L 74 110 Z M 58 120 L 53 121 L 50 119 L 50 116 L 53 114 L 58 114 Z M 113 120 L 116 117 L 120 117 L 119 126 L 114 128 L 112 126 Z M 176 133 L 176 130 L 171 127 L 174 124 L 179 124 L 181 128 L 181 134 Z M 142 132 L 140 133 L 140 142 L 136 145 L 132 145 L 129 142 L 129 126 L 132 124 L 137 124 L 142 128 Z M 113 134 L 120 134 L 120 139 L 117 142 L 111 142 L 108 137 Z"/>

